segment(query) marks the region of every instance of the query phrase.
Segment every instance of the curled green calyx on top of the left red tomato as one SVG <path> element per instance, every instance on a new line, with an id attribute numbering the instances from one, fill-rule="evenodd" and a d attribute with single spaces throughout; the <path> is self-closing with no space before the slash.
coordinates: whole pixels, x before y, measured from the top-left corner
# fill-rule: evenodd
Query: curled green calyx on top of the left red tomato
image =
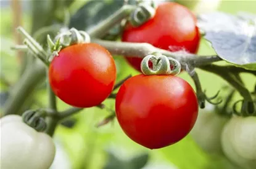
<path id="1" fill-rule="evenodd" d="M 47 35 L 47 44 L 49 49 L 52 52 L 52 55 L 49 56 L 48 61 L 52 61 L 54 57 L 59 56 L 60 50 L 64 49 L 73 44 L 83 44 L 91 42 L 91 37 L 85 31 L 78 31 L 75 28 L 64 30 L 61 33 L 57 34 L 52 41 L 49 34 Z"/>

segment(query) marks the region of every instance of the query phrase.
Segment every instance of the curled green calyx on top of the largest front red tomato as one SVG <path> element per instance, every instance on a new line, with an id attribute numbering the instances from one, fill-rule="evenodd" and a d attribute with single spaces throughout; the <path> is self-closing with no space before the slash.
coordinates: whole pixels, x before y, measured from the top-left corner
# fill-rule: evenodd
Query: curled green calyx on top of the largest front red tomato
<path id="1" fill-rule="evenodd" d="M 149 66 L 152 63 L 152 68 Z M 147 55 L 141 61 L 141 71 L 145 75 L 176 75 L 181 71 L 181 65 L 178 60 L 168 58 L 161 53 L 152 53 Z"/>

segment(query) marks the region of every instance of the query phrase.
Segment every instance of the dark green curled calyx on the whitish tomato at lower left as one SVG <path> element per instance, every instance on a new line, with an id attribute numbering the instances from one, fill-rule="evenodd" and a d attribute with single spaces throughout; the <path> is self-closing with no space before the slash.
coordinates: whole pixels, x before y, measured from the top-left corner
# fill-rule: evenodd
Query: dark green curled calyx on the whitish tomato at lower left
<path id="1" fill-rule="evenodd" d="M 22 114 L 22 119 L 25 124 L 34 128 L 38 132 L 43 132 L 46 129 L 46 122 L 43 118 L 42 111 L 28 110 Z"/>

